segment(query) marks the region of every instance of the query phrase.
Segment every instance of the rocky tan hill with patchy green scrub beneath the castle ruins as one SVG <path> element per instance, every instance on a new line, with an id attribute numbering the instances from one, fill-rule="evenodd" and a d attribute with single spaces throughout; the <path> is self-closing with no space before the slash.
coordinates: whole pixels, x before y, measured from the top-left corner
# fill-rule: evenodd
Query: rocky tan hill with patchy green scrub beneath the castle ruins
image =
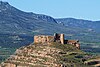
<path id="1" fill-rule="evenodd" d="M 51 43 L 21 47 L 1 67 L 88 67 L 84 64 L 92 57 L 73 45 Z M 89 58 L 88 58 L 89 59 Z"/>

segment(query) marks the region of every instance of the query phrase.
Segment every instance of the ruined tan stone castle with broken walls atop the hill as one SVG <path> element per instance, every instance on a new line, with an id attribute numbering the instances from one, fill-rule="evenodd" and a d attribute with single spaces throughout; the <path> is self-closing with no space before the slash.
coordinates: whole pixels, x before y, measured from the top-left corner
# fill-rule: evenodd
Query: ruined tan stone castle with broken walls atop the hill
<path id="1" fill-rule="evenodd" d="M 58 42 L 61 44 L 71 44 L 80 48 L 80 44 L 78 40 L 65 40 L 64 34 L 55 33 L 54 36 L 47 35 L 37 35 L 34 36 L 34 43 L 50 43 L 50 42 Z"/>

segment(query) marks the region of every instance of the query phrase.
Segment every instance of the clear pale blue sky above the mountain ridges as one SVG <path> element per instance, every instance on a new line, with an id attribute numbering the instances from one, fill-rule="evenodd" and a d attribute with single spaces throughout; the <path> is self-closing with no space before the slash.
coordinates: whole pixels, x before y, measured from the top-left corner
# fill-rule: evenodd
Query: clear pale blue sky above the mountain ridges
<path id="1" fill-rule="evenodd" d="M 14 7 L 54 18 L 100 20 L 100 0 L 2 0 Z"/>

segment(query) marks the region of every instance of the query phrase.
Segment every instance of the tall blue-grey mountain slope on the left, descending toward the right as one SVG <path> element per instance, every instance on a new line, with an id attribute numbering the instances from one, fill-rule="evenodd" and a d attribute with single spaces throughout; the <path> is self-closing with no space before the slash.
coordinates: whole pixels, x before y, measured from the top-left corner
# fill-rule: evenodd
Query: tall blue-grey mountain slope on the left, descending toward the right
<path id="1" fill-rule="evenodd" d="M 45 26 L 50 28 L 52 24 L 57 23 L 50 16 L 23 12 L 7 2 L 0 1 L 0 32 L 2 33 L 27 34 L 33 30 L 43 31 Z"/>

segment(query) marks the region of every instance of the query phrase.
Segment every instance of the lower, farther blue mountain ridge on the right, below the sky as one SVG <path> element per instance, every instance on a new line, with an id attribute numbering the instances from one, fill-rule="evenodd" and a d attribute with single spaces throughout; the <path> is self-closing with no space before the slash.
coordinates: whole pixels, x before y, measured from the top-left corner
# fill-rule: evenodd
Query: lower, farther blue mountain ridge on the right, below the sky
<path id="1" fill-rule="evenodd" d="M 59 18 L 56 19 L 56 21 L 58 24 L 64 25 L 66 27 L 78 27 L 87 29 L 89 31 L 100 32 L 100 21 L 90 21 L 75 18 Z"/>

